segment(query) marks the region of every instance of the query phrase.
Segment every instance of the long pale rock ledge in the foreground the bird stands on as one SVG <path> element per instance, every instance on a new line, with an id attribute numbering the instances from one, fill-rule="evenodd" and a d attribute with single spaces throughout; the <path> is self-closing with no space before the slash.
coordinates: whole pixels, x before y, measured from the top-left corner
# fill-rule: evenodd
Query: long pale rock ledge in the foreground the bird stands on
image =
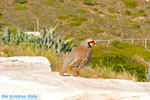
<path id="1" fill-rule="evenodd" d="M 150 100 L 150 83 L 5 71 L 0 72 L 0 100 Z"/>

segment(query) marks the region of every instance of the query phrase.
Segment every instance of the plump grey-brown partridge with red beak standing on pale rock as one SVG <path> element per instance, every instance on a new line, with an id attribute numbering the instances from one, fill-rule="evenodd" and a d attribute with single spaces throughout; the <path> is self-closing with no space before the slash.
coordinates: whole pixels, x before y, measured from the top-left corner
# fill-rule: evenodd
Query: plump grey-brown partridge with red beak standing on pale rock
<path id="1" fill-rule="evenodd" d="M 63 61 L 62 70 L 60 75 L 63 75 L 69 70 L 76 71 L 78 77 L 81 77 L 79 71 L 88 64 L 92 55 L 92 46 L 96 42 L 92 39 L 84 40 L 78 47 L 73 49 Z"/>

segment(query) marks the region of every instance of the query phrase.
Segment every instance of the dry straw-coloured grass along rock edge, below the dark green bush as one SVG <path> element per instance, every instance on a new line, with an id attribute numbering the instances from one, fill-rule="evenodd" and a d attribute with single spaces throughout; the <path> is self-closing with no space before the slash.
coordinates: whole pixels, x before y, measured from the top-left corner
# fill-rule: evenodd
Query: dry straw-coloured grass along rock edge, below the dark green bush
<path id="1" fill-rule="evenodd" d="M 98 66 L 95 69 L 90 67 L 84 68 L 81 70 L 81 75 L 88 78 L 102 78 L 102 79 L 126 79 L 137 81 L 137 78 L 134 75 L 129 74 L 127 71 L 122 73 L 116 73 L 111 68 L 103 66 L 99 68 Z"/>

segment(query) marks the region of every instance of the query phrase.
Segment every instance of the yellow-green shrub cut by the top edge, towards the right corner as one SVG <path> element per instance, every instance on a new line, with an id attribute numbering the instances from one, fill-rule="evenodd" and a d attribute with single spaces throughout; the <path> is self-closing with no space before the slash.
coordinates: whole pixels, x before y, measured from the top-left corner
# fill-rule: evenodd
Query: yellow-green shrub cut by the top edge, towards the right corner
<path id="1" fill-rule="evenodd" d="M 136 0 L 122 0 L 126 8 L 136 8 L 139 4 Z"/>

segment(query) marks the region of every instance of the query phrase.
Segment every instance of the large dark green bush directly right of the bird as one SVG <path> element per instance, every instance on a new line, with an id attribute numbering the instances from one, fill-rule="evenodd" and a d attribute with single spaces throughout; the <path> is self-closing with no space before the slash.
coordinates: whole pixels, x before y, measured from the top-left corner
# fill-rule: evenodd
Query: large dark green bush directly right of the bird
<path id="1" fill-rule="evenodd" d="M 145 73 L 147 67 L 121 53 L 105 52 L 101 53 L 101 55 L 93 55 L 90 65 L 93 68 L 95 66 L 110 68 L 116 73 L 127 72 L 130 75 L 136 76 L 137 81 L 146 80 Z"/>

